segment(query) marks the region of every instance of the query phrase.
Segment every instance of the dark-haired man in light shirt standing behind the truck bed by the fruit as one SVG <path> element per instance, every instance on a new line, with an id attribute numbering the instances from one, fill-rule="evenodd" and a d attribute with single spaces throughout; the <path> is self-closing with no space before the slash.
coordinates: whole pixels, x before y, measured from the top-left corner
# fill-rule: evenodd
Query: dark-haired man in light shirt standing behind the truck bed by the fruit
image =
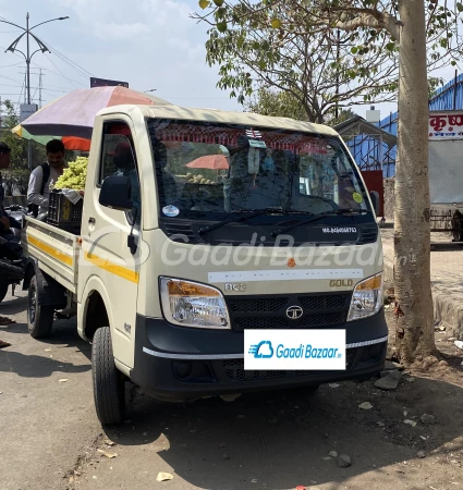
<path id="1" fill-rule="evenodd" d="M 51 139 L 45 147 L 47 161 L 33 170 L 27 189 L 27 203 L 34 216 L 48 211 L 50 184 L 58 181 L 64 170 L 64 145 L 60 139 Z"/>

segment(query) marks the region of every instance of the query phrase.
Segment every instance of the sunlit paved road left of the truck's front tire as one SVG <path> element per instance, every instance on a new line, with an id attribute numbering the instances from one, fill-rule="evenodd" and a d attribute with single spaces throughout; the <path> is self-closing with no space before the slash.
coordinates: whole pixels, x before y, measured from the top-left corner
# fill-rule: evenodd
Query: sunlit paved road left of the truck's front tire
<path id="1" fill-rule="evenodd" d="M 59 489 L 101 431 L 92 399 L 90 348 L 73 321 L 57 322 L 46 342 L 32 339 L 27 298 L 17 294 L 0 304 L 0 315 L 17 321 L 0 327 L 0 339 L 12 344 L 0 351 L 0 489 Z"/>

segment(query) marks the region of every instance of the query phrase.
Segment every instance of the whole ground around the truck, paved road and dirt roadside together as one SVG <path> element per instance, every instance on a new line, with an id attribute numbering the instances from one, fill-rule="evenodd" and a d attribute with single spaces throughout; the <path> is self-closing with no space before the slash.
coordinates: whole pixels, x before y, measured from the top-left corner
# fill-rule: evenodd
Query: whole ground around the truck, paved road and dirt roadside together
<path id="1" fill-rule="evenodd" d="M 102 430 L 75 323 L 37 342 L 24 308 L 24 297 L 0 305 L 17 320 L 0 329 L 13 344 L 0 351 L 2 490 L 463 488 L 463 351 L 446 332 L 436 333 L 442 362 L 404 371 L 394 391 L 370 380 L 166 404 L 127 387 L 125 422 Z"/>

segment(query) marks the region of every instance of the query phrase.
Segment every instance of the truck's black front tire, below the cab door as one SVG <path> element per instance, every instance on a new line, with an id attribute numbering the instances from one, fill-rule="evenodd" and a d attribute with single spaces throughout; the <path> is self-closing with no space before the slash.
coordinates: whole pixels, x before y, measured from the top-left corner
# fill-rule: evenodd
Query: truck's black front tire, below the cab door
<path id="1" fill-rule="evenodd" d="M 94 400 L 101 425 L 120 424 L 124 416 L 124 376 L 118 370 L 112 353 L 111 330 L 101 327 L 92 344 Z"/>

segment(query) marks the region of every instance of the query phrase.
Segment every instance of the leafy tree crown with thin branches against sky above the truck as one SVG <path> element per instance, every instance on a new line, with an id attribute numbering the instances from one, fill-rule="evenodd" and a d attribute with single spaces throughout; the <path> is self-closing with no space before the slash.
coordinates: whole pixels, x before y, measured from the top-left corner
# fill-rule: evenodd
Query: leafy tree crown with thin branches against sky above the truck
<path id="1" fill-rule="evenodd" d="M 428 64 L 454 65 L 456 53 L 463 51 L 455 29 L 463 17 L 463 0 L 454 0 L 451 8 L 446 0 L 423 1 L 428 7 Z M 397 0 L 202 0 L 199 4 L 207 10 L 193 17 L 214 26 L 206 60 L 219 66 L 219 86 L 241 101 L 255 94 L 256 84 L 264 84 L 292 94 L 306 114 L 319 115 L 334 100 L 350 103 L 365 97 L 379 102 L 397 91 L 400 40 L 375 21 L 338 30 L 340 21 L 352 25 L 360 19 L 358 9 L 399 16 Z"/>

